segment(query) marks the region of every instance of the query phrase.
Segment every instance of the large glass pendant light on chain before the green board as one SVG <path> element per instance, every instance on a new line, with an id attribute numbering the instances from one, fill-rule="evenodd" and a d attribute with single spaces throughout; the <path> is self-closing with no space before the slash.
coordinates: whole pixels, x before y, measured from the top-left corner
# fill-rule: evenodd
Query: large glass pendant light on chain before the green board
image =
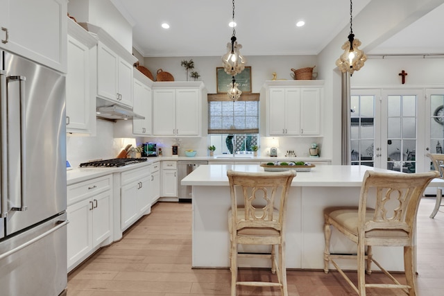
<path id="1" fill-rule="evenodd" d="M 232 18 L 233 33 L 231 36 L 231 42 L 227 44 L 227 53 L 222 55 L 223 68 L 225 72 L 230 76 L 235 76 L 241 73 L 245 68 L 246 59 L 241 55 L 241 44 L 237 44 L 236 24 L 234 23 L 234 0 L 233 0 L 233 18 Z"/>

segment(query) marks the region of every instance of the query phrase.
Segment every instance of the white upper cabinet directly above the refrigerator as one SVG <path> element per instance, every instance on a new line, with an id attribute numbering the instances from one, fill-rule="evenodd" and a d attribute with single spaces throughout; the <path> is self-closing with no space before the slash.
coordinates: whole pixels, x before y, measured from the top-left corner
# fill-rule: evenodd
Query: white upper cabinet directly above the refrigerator
<path id="1" fill-rule="evenodd" d="M 67 0 L 0 0 L 0 48 L 67 72 Z"/>

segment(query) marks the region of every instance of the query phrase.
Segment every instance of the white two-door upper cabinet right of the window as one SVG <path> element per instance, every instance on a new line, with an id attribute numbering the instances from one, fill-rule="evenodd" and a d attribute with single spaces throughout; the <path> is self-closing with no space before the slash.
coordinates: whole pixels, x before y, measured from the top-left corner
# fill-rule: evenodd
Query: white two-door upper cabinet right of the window
<path id="1" fill-rule="evenodd" d="M 321 135 L 322 80 L 268 81 L 263 94 L 266 136 Z"/>

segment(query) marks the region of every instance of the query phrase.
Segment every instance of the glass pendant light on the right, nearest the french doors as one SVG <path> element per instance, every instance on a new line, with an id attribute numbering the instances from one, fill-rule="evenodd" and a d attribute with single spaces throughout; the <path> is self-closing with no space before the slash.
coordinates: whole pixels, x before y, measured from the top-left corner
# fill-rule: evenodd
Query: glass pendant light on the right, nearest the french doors
<path id="1" fill-rule="evenodd" d="M 348 35 L 348 41 L 341 47 L 344 53 L 336 60 L 336 66 L 338 66 L 343 73 L 350 73 L 350 76 L 352 76 L 354 71 L 361 69 L 367 60 L 367 55 L 364 51 L 361 51 L 358 46 L 361 46 L 361 42 L 359 39 L 355 39 L 355 34 L 353 34 L 352 0 L 350 0 L 350 34 Z"/>

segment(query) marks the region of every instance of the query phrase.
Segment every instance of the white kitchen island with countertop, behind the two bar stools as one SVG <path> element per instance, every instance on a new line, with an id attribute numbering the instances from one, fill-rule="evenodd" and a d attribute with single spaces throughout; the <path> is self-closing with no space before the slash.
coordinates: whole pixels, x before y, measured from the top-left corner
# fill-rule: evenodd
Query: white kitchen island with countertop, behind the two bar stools
<path id="1" fill-rule="evenodd" d="M 262 172 L 254 165 L 207 165 L 182 179 L 193 186 L 192 265 L 194 268 L 227 268 L 229 235 L 228 210 L 230 188 L 228 169 Z M 330 206 L 357 206 L 362 178 L 366 171 L 395 173 L 369 166 L 316 166 L 309 172 L 298 172 L 291 183 L 287 203 L 287 268 L 323 269 L 323 209 Z M 442 186 L 433 180 L 431 186 Z M 374 202 L 374 201 L 373 201 Z M 356 247 L 334 229 L 332 253 L 355 254 Z M 248 246 L 255 247 L 255 246 Z M 239 248 L 240 249 L 240 248 Z M 373 248 L 375 258 L 387 270 L 404 270 L 402 247 Z M 268 261 L 255 262 L 266 267 Z M 249 266 L 247 261 L 239 265 Z M 356 269 L 356 261 L 344 260 L 345 270 Z"/>

